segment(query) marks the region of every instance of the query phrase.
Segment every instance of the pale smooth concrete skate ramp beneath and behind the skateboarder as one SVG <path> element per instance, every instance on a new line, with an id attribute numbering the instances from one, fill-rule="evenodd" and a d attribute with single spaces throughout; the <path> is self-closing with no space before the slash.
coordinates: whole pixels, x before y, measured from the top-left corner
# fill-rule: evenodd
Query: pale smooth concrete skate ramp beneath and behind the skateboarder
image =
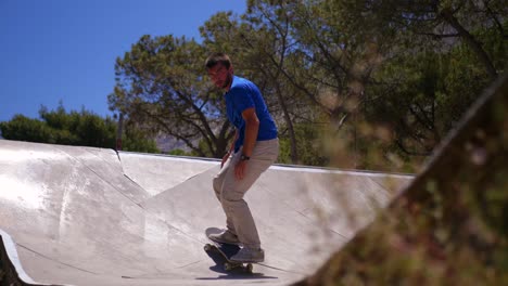
<path id="1" fill-rule="evenodd" d="M 209 159 L 0 140 L 1 265 L 26 285 L 288 285 L 412 179 L 271 167 L 246 195 L 266 251 L 247 275 L 203 250 L 204 230 L 225 221 L 218 170 Z"/>

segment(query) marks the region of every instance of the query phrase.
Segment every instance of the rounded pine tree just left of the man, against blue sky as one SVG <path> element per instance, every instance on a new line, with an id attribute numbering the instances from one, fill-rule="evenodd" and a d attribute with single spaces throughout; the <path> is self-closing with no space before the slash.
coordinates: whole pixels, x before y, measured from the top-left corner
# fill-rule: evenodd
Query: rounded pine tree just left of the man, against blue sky
<path id="1" fill-rule="evenodd" d="M 204 58 L 193 40 L 141 37 L 116 61 L 111 109 L 152 134 L 181 140 L 198 156 L 221 157 L 233 133 L 221 96 L 205 76 Z"/>

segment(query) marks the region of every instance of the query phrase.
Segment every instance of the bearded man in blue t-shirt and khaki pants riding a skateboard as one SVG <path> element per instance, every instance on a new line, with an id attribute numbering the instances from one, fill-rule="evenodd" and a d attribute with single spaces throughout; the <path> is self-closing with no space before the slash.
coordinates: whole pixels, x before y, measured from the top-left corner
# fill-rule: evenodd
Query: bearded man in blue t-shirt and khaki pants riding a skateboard
<path id="1" fill-rule="evenodd" d="M 226 213 L 226 230 L 209 238 L 243 245 L 231 258 L 233 261 L 262 262 L 265 252 L 243 196 L 279 155 L 277 127 L 258 88 L 233 75 L 228 55 L 214 53 L 205 65 L 213 83 L 226 92 L 227 116 L 236 128 L 234 142 L 213 181 L 215 194 Z"/>

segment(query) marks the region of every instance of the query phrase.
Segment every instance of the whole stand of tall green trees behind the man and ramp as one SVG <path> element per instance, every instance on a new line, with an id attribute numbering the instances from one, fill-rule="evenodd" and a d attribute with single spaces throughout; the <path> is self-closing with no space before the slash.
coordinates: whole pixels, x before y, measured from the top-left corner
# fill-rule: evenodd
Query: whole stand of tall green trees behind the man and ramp
<path id="1" fill-rule="evenodd" d="M 116 62 L 110 106 L 219 158 L 232 133 L 203 62 L 223 51 L 261 88 L 283 132 L 280 161 L 414 170 L 505 68 L 507 13 L 501 0 L 252 0 L 206 21 L 202 43 L 141 37 Z M 341 160 L 315 147 L 332 138 Z"/>

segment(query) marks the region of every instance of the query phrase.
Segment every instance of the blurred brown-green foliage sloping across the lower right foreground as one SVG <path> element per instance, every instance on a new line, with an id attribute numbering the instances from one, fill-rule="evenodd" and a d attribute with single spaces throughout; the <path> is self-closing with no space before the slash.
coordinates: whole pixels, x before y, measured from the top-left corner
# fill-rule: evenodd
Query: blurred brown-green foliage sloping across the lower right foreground
<path id="1" fill-rule="evenodd" d="M 508 74 L 373 223 L 296 285 L 508 285 Z"/>

